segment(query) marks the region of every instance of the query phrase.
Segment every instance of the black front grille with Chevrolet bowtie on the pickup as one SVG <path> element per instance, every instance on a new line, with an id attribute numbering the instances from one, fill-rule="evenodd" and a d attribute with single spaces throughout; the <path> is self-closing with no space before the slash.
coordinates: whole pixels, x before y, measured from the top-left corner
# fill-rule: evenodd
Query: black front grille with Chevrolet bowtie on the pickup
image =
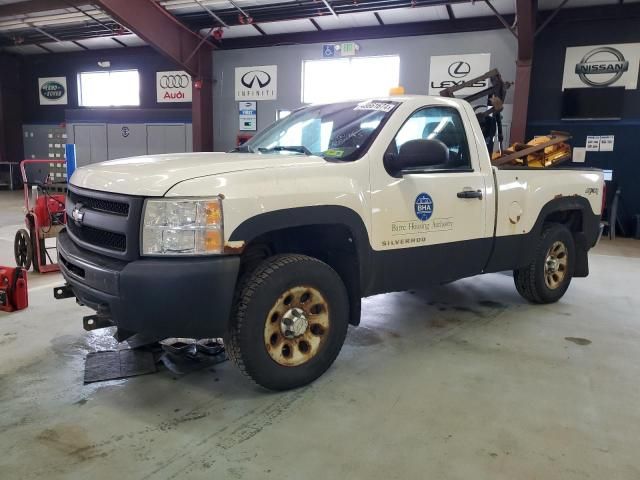
<path id="1" fill-rule="evenodd" d="M 96 192 L 69 185 L 67 231 L 74 243 L 82 248 L 122 260 L 135 260 L 140 250 L 143 203 L 142 197 Z M 82 218 L 78 218 L 79 212 Z"/>

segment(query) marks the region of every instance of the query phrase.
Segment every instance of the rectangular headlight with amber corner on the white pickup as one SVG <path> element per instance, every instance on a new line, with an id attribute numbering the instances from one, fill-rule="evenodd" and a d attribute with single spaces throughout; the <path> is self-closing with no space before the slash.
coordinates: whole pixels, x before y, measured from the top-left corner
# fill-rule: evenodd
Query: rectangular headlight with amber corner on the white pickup
<path id="1" fill-rule="evenodd" d="M 220 198 L 146 200 L 142 221 L 142 255 L 222 253 Z"/>

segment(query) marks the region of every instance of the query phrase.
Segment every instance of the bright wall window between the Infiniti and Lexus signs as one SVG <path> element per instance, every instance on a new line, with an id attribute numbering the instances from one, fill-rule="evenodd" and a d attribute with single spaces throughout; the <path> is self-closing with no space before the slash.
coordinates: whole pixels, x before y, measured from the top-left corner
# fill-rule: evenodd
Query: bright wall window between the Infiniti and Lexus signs
<path id="1" fill-rule="evenodd" d="M 400 57 L 349 57 L 302 63 L 302 102 L 386 97 L 400 81 Z"/>

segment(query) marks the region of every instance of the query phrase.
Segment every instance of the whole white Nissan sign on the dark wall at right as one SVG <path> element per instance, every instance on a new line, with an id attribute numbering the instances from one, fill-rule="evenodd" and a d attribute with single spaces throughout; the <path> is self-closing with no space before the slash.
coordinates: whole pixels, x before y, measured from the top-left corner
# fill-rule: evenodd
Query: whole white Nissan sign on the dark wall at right
<path id="1" fill-rule="evenodd" d="M 640 43 L 567 48 L 562 89 L 638 86 Z"/>

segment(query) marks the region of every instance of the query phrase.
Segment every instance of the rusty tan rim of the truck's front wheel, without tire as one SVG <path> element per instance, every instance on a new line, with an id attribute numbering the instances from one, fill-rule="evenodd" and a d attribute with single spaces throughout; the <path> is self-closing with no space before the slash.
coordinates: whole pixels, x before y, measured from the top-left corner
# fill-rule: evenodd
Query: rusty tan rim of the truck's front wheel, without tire
<path id="1" fill-rule="evenodd" d="M 285 291 L 265 319 L 264 344 L 269 356 L 286 367 L 310 361 L 329 336 L 329 313 L 319 290 L 298 286 Z"/>

